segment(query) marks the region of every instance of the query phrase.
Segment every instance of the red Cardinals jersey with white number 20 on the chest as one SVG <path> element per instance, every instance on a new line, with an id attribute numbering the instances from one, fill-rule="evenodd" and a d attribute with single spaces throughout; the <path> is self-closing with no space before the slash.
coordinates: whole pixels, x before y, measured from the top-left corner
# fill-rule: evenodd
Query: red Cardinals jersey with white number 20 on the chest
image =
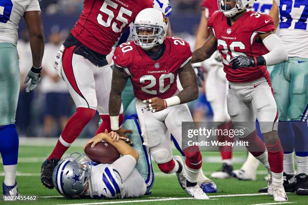
<path id="1" fill-rule="evenodd" d="M 130 76 L 135 97 L 166 99 L 177 91 L 178 70 L 192 57 L 189 44 L 177 37 L 167 37 L 165 52 L 157 61 L 151 59 L 133 41 L 118 46 L 113 55 L 116 66 Z"/>

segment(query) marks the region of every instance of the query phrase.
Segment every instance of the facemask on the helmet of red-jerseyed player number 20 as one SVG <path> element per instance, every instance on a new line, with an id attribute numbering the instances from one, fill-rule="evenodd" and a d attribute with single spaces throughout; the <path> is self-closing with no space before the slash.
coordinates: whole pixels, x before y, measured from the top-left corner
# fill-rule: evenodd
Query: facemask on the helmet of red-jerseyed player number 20
<path id="1" fill-rule="evenodd" d="M 134 24 L 133 26 L 134 42 L 144 50 L 149 50 L 162 44 L 165 36 L 162 26 L 150 24 Z"/>

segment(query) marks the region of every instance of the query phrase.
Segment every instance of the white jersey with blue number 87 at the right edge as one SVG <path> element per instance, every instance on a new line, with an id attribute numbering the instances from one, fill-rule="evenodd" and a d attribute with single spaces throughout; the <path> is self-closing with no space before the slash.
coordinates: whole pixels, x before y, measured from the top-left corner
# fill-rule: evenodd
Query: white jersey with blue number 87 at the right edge
<path id="1" fill-rule="evenodd" d="M 275 1 L 279 8 L 279 36 L 289 57 L 308 58 L 308 1 Z"/>

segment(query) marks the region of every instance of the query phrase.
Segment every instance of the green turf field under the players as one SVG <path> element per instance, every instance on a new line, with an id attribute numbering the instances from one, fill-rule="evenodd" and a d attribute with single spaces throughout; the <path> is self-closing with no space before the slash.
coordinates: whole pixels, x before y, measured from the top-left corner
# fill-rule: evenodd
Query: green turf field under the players
<path id="1" fill-rule="evenodd" d="M 51 144 L 50 144 L 51 145 Z M 19 165 L 17 182 L 21 195 L 35 195 L 36 201 L 1 201 L 0 204 L 106 204 L 106 203 L 136 203 L 136 204 L 282 204 L 273 200 L 273 197 L 267 194 L 258 193 L 258 189 L 266 186 L 265 169 L 260 165 L 258 178 L 256 181 L 239 181 L 237 179 L 214 180 L 217 184 L 217 193 L 208 194 L 210 200 L 194 200 L 182 190 L 178 184 L 175 174 L 167 175 L 159 171 L 155 164 L 155 183 L 152 188 L 152 194 L 136 199 L 122 200 L 96 200 L 96 199 L 65 199 L 60 196 L 55 189 L 45 188 L 40 181 L 40 167 L 42 161 L 52 151 L 51 146 L 20 146 Z M 71 147 L 67 154 L 74 151 L 82 151 L 82 148 Z M 177 151 L 175 151 L 177 153 Z M 206 158 L 215 159 L 219 153 L 210 152 L 202 153 L 204 160 Z M 244 160 L 246 153 L 235 152 L 234 156 Z M 0 160 L 1 161 L 1 160 Z M 207 176 L 220 167 L 220 162 L 203 163 L 203 171 Z M 234 167 L 240 168 L 241 164 L 237 163 Z M 0 166 L 0 179 L 3 181 L 3 167 Z M 240 195 L 243 194 L 243 195 Z M 288 202 L 294 204 L 308 204 L 307 196 L 297 196 L 295 193 L 288 193 Z"/>

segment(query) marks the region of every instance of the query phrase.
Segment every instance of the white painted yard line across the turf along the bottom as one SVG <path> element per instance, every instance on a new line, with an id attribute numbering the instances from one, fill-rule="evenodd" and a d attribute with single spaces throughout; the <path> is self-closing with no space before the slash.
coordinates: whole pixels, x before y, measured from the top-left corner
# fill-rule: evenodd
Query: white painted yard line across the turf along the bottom
<path id="1" fill-rule="evenodd" d="M 235 197 L 235 196 L 256 196 L 256 195 L 267 195 L 267 193 L 247 193 L 247 194 L 227 194 L 227 195 L 213 195 L 210 196 L 210 199 L 218 197 Z M 42 196 L 42 198 L 55 197 L 55 196 Z M 58 205 L 95 205 L 95 204 L 113 204 L 113 203 L 137 203 L 137 202 L 152 202 L 152 201 L 169 201 L 169 200 L 183 200 L 183 199 L 194 199 L 192 197 L 171 197 L 171 198 L 152 198 L 152 199 L 143 199 L 143 200 L 123 200 L 123 201 L 104 201 L 104 202 L 92 202 L 92 203 L 65 203 Z"/>

